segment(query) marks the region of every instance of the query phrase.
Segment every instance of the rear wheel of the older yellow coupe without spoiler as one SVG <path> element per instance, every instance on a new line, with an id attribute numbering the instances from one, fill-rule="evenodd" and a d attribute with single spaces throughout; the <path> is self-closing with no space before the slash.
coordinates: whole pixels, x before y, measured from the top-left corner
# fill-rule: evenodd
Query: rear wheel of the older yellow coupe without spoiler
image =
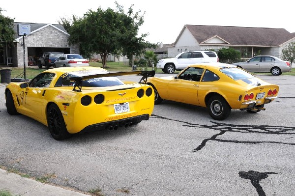
<path id="1" fill-rule="evenodd" d="M 212 96 L 209 99 L 207 109 L 210 116 L 215 120 L 226 119 L 232 110 L 227 101 L 219 95 Z"/>

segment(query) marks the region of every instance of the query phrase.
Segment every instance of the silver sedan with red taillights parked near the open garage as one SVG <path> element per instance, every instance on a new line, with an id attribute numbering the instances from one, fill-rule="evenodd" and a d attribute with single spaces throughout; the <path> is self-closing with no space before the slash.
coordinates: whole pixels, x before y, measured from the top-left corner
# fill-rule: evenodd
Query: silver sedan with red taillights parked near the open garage
<path id="1" fill-rule="evenodd" d="M 59 56 L 59 59 L 55 61 L 54 67 L 77 67 L 77 66 L 89 66 L 89 60 L 83 58 L 77 54 L 65 54 Z"/>

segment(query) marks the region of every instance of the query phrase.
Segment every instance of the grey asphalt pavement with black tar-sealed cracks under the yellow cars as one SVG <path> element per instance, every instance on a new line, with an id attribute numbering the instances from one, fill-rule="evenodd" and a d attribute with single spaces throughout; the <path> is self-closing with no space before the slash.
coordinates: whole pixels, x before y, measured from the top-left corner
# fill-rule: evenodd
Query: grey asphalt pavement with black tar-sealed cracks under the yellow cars
<path id="1" fill-rule="evenodd" d="M 0 85 L 0 166 L 103 196 L 293 196 L 295 77 L 258 77 L 280 87 L 266 111 L 216 121 L 204 108 L 164 101 L 136 126 L 62 141 L 10 116 Z"/>

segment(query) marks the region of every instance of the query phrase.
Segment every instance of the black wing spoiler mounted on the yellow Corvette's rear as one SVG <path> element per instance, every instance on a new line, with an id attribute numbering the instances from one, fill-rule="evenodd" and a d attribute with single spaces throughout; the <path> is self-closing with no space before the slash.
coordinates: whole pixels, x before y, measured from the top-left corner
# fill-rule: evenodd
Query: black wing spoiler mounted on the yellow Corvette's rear
<path id="1" fill-rule="evenodd" d="M 142 76 L 139 83 L 146 84 L 148 77 L 153 77 L 155 75 L 155 71 L 130 71 L 130 72 L 115 72 L 115 73 L 107 73 L 107 74 L 94 74 L 94 75 L 87 75 L 87 76 L 77 76 L 77 77 L 70 77 L 68 78 L 68 82 L 75 81 L 75 85 L 73 91 L 82 91 L 82 82 L 84 80 L 89 80 L 93 78 L 103 78 L 103 77 L 116 77 L 116 76 L 126 76 L 126 75 L 138 75 Z M 78 89 L 76 89 L 76 87 Z"/>

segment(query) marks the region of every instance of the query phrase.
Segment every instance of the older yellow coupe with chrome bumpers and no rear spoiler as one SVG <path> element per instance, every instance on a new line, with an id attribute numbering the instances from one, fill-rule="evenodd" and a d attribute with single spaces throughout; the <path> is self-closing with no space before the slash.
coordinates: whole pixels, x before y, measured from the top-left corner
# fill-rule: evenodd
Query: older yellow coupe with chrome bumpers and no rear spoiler
<path id="1" fill-rule="evenodd" d="M 215 120 L 227 118 L 232 109 L 256 113 L 265 110 L 279 91 L 254 75 L 225 63 L 190 65 L 177 76 L 148 78 L 154 88 L 155 104 L 164 99 L 207 107 Z"/>

